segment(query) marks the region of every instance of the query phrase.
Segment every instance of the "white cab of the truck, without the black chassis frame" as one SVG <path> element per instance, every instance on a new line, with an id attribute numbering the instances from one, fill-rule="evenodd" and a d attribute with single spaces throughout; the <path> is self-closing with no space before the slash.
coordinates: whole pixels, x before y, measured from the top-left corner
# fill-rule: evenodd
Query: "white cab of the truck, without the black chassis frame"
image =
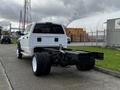
<path id="1" fill-rule="evenodd" d="M 18 39 L 21 54 L 33 56 L 42 47 L 67 47 L 67 36 L 62 25 L 53 23 L 32 23 Z M 19 51 L 19 50 L 18 50 Z"/>

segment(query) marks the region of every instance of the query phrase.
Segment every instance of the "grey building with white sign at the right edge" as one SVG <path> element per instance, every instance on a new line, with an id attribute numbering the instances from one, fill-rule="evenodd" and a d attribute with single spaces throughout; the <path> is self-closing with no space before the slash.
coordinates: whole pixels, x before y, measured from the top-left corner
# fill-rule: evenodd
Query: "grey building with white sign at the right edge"
<path id="1" fill-rule="evenodd" d="M 107 20 L 106 43 L 109 47 L 120 47 L 120 18 Z"/>

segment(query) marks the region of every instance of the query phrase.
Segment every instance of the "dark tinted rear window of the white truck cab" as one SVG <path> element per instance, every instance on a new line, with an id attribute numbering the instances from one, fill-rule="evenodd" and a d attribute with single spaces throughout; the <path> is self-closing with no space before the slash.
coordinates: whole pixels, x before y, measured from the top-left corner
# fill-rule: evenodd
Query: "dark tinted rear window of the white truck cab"
<path id="1" fill-rule="evenodd" d="M 36 24 L 33 33 L 64 34 L 64 30 L 57 24 Z"/>

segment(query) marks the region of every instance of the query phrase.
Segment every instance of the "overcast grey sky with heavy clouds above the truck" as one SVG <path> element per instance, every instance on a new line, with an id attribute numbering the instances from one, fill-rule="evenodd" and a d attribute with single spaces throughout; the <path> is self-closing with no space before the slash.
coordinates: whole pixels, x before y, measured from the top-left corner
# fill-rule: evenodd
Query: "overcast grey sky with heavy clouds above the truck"
<path id="1" fill-rule="evenodd" d="M 33 21 L 67 24 L 75 19 L 117 12 L 120 0 L 31 0 Z M 24 0 L 0 0 L 0 20 L 19 21 Z"/>

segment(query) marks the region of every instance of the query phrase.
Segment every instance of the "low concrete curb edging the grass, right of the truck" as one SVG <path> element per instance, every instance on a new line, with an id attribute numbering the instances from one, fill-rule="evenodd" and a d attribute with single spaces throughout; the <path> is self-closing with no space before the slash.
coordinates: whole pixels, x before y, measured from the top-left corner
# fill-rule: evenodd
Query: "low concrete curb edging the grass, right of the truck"
<path id="1" fill-rule="evenodd" d="M 98 66 L 95 66 L 94 70 L 120 78 L 120 72 L 117 72 L 117 71 L 112 71 L 112 70 L 105 69 L 105 68 L 98 67 Z"/>

